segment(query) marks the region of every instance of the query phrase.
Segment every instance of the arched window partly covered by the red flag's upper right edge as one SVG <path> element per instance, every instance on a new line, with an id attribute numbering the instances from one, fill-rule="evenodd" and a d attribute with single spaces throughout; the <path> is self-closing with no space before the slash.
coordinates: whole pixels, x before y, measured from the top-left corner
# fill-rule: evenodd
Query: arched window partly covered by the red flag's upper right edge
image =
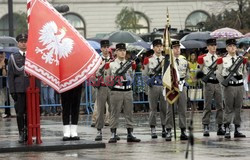
<path id="1" fill-rule="evenodd" d="M 75 29 L 83 36 L 86 37 L 86 29 L 84 20 L 75 13 L 66 13 L 63 15 L 68 22 L 75 27 Z"/>

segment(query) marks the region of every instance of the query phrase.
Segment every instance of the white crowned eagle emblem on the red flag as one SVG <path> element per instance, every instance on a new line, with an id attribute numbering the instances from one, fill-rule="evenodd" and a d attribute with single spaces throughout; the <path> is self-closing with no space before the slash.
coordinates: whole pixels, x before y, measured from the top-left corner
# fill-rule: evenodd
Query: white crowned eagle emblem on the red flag
<path id="1" fill-rule="evenodd" d="M 58 33 L 59 32 L 59 33 Z M 54 21 L 50 21 L 43 25 L 39 32 L 39 42 L 44 46 L 43 49 L 36 47 L 36 53 L 41 53 L 45 63 L 52 64 L 55 62 L 59 65 L 59 59 L 66 58 L 71 53 L 74 41 L 70 38 L 64 38 L 66 28 L 58 27 Z"/>

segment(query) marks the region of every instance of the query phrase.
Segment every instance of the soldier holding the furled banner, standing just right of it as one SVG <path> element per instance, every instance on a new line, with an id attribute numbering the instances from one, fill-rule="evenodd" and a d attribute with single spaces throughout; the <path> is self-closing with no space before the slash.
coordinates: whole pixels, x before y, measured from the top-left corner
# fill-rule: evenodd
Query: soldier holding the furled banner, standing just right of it
<path id="1" fill-rule="evenodd" d="M 185 86 L 185 79 L 187 79 L 188 71 L 188 61 L 185 57 L 180 56 L 180 42 L 173 41 L 173 54 L 174 54 L 174 63 L 177 66 L 180 81 L 179 81 L 179 99 L 174 103 L 174 106 L 167 105 L 167 115 L 166 115 L 166 141 L 171 141 L 172 133 L 171 129 L 173 128 L 173 108 L 177 108 L 179 114 L 179 127 L 181 129 L 181 140 L 187 140 L 186 135 L 186 111 L 187 111 L 187 87 Z"/>

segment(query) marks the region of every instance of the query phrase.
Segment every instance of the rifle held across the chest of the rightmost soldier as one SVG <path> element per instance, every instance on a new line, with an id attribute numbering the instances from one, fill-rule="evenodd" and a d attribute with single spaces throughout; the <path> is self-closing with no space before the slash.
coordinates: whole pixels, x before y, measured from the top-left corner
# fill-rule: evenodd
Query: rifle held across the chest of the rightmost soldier
<path id="1" fill-rule="evenodd" d="M 250 50 L 250 47 L 247 49 L 247 51 L 244 53 L 244 55 L 246 53 L 248 53 L 249 50 Z M 227 78 L 225 78 L 221 82 L 221 84 L 223 86 L 227 87 L 230 80 L 232 80 L 234 82 L 237 81 L 237 79 L 235 79 L 233 76 L 234 76 L 235 73 L 237 74 L 237 71 L 238 71 L 240 65 L 243 63 L 243 61 L 244 61 L 244 55 L 237 57 L 236 61 L 230 66 L 230 68 L 228 69 L 229 74 L 228 74 Z"/>

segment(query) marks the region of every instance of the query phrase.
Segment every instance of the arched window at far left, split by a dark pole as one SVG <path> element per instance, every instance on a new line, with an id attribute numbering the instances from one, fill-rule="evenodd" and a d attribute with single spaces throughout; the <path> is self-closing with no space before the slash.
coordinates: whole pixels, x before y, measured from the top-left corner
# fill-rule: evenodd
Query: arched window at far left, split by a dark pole
<path id="1" fill-rule="evenodd" d="M 20 33 L 27 32 L 27 22 L 26 22 L 26 14 L 21 13 L 13 14 L 13 26 L 14 26 L 14 36 L 17 36 Z M 9 35 L 9 18 L 8 14 L 4 15 L 0 19 L 0 36 Z"/>

